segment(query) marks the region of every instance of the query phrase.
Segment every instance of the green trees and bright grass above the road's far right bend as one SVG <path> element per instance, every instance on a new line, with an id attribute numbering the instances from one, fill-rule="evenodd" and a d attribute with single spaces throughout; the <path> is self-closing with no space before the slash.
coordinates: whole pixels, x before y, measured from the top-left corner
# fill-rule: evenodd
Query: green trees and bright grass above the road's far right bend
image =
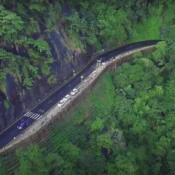
<path id="1" fill-rule="evenodd" d="M 68 4 L 80 8 L 66 18 L 68 27 L 83 34 L 81 40 L 89 44 L 100 41 L 111 47 L 128 41 L 174 40 L 174 2 L 71 0 Z"/>

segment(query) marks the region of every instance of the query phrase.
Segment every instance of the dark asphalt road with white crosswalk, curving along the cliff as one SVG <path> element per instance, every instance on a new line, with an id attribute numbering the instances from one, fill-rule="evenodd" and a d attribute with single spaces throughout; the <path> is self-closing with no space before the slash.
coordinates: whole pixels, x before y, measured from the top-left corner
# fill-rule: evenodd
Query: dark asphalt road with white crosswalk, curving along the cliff
<path id="1" fill-rule="evenodd" d="M 90 75 L 96 67 L 96 62 L 98 59 L 101 59 L 102 62 L 108 61 L 111 57 L 117 56 L 119 54 L 122 54 L 124 52 L 131 51 L 133 49 L 138 49 L 145 46 L 151 46 L 155 45 L 161 40 L 149 40 L 149 41 L 142 41 L 137 43 L 132 43 L 129 45 L 125 45 L 122 47 L 119 47 L 117 49 L 104 52 L 102 54 L 97 55 L 93 60 L 90 61 L 88 66 L 86 66 L 82 71 L 79 72 L 73 79 L 68 81 L 65 85 L 63 85 L 61 88 L 53 92 L 51 95 L 49 95 L 44 101 L 42 101 L 40 104 L 38 104 L 35 108 L 33 108 L 31 111 L 24 114 L 24 116 L 14 123 L 12 126 L 10 126 L 8 129 L 6 129 L 4 132 L 0 134 L 0 149 L 3 148 L 5 145 L 7 145 L 11 140 L 14 139 L 14 137 L 17 137 L 22 132 L 24 132 L 24 129 L 29 127 L 35 120 L 39 120 L 45 112 L 47 112 L 52 106 L 54 106 L 56 103 L 58 103 L 63 97 L 65 97 L 68 93 L 71 92 L 73 88 L 75 88 L 80 82 L 81 82 L 81 76 L 84 76 L 84 79 Z M 23 119 L 29 118 L 29 125 L 19 130 L 17 129 L 17 125 L 19 122 Z"/>

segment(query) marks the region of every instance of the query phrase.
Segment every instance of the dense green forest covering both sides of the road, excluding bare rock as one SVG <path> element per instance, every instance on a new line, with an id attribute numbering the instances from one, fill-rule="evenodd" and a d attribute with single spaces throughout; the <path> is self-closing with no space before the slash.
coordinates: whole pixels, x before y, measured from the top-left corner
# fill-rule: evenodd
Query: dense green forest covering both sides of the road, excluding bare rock
<path id="1" fill-rule="evenodd" d="M 50 75 L 46 36 L 59 24 L 84 50 L 164 39 L 107 72 L 92 93 L 50 129 L 41 145 L 17 150 L 15 175 L 175 174 L 175 4 L 165 0 L 0 1 L 0 89 Z M 67 15 L 62 8 L 66 4 Z M 47 27 L 41 32 L 40 25 Z M 38 35 L 37 35 L 38 34 Z M 53 80 L 54 81 L 54 80 Z M 85 120 L 87 119 L 87 120 Z M 11 157 L 0 157 L 6 175 Z"/>

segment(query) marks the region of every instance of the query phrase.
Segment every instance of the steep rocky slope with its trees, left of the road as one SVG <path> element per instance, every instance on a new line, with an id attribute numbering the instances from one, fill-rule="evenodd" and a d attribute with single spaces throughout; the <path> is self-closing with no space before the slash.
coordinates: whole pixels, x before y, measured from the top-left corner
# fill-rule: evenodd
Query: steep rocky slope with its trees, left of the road
<path id="1" fill-rule="evenodd" d="M 59 3 L 43 3 L 0 6 L 0 26 L 8 29 L 0 31 L 0 131 L 76 74 L 90 58 L 61 22 L 60 14 L 69 12 L 67 6 L 61 9 Z M 48 11 L 42 10 L 46 5 Z"/>

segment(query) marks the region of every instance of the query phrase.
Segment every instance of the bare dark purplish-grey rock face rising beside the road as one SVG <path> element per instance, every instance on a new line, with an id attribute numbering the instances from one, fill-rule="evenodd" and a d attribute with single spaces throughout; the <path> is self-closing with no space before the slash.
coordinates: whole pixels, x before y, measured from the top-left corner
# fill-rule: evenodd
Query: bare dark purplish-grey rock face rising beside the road
<path id="1" fill-rule="evenodd" d="M 27 90 L 13 75 L 8 74 L 5 81 L 6 94 L 0 92 L 0 132 L 22 116 L 27 109 L 31 109 L 44 99 L 56 87 L 74 76 L 90 58 L 90 55 L 87 55 L 72 42 L 71 36 L 66 34 L 62 25 L 58 30 L 50 32 L 44 39 L 49 44 L 54 58 L 54 62 L 50 66 L 57 83 L 50 85 L 47 82 L 48 76 L 40 74 L 40 78 L 35 80 L 32 88 Z M 8 100 L 10 104 L 8 109 L 5 107 L 5 100 Z"/>

